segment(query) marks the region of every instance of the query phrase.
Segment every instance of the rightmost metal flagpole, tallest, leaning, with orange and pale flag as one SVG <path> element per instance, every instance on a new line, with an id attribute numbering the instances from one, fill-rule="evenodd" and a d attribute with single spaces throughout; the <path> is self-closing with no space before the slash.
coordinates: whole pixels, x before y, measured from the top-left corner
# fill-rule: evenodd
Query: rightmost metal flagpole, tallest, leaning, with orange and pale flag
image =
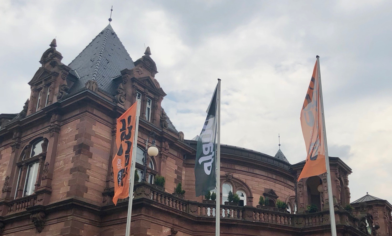
<path id="1" fill-rule="evenodd" d="M 320 90 L 320 102 L 321 102 L 321 116 L 323 118 L 324 127 L 324 147 L 325 147 L 325 165 L 327 167 L 327 187 L 328 187 L 328 205 L 329 205 L 329 219 L 331 222 L 331 236 L 336 236 L 336 221 L 335 221 L 335 210 L 334 210 L 334 199 L 332 196 L 332 183 L 331 183 L 331 171 L 329 168 L 329 156 L 328 156 L 328 145 L 327 145 L 327 132 L 325 128 L 325 116 L 324 116 L 324 102 L 323 102 L 323 91 L 321 89 L 321 73 L 320 73 L 320 60 L 317 58 L 317 70 L 319 76 L 319 90 Z"/>

